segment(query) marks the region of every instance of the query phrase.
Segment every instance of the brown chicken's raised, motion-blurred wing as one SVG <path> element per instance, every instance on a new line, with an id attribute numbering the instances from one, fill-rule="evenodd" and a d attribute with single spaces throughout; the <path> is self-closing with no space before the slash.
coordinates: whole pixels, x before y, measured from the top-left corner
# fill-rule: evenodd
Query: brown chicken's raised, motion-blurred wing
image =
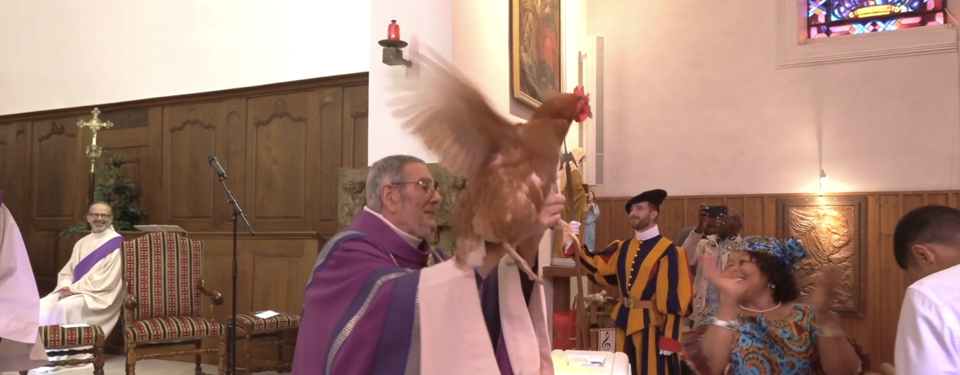
<path id="1" fill-rule="evenodd" d="M 394 116 L 405 119 L 402 127 L 420 137 L 444 168 L 469 178 L 496 152 L 516 144 L 517 127 L 497 114 L 456 68 L 444 59 L 432 59 L 427 55 L 436 53 L 426 50 L 415 58 L 420 80 L 401 83 L 403 94 L 388 105 L 394 107 Z"/>

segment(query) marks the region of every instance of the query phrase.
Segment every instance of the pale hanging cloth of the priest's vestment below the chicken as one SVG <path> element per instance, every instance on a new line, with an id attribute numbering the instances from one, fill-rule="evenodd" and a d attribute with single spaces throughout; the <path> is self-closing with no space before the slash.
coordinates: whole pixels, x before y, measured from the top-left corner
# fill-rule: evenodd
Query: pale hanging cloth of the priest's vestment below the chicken
<path id="1" fill-rule="evenodd" d="M 514 373 L 553 374 L 543 287 L 534 285 L 527 306 L 513 259 L 504 257 L 498 267 L 500 322 Z M 499 374 L 472 272 L 446 261 L 420 270 L 419 288 L 418 318 L 429 322 L 420 325 L 420 375 Z"/>

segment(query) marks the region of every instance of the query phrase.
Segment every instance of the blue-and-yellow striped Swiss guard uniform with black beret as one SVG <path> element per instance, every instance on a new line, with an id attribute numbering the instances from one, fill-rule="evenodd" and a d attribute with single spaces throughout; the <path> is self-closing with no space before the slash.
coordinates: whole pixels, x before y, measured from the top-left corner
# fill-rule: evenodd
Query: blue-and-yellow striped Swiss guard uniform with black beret
<path id="1" fill-rule="evenodd" d="M 665 191 L 651 190 L 630 199 L 625 208 L 629 214 L 637 203 L 659 206 L 663 199 Z M 616 351 L 627 354 L 633 373 L 680 375 L 681 330 L 693 299 L 684 249 L 661 236 L 654 225 L 602 251 L 586 246 L 579 251 L 580 267 L 591 282 L 620 290 L 622 297 L 612 311 Z"/>

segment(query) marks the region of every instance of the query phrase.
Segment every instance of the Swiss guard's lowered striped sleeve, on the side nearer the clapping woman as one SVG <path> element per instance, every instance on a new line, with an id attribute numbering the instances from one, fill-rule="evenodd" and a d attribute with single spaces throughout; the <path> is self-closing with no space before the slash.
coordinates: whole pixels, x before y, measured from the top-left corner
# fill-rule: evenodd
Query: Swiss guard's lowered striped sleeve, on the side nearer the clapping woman
<path id="1" fill-rule="evenodd" d="M 684 316 L 690 315 L 693 301 L 693 278 L 683 248 L 670 246 L 660 259 L 656 299 L 657 310 L 664 316 L 660 350 L 680 352 Z"/>

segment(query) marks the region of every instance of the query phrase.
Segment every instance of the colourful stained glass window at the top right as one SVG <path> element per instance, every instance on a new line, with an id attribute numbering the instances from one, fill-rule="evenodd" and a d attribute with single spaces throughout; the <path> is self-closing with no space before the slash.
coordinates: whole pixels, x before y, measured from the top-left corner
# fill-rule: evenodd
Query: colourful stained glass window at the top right
<path id="1" fill-rule="evenodd" d="M 806 0 L 809 38 L 943 25 L 947 0 Z"/>

